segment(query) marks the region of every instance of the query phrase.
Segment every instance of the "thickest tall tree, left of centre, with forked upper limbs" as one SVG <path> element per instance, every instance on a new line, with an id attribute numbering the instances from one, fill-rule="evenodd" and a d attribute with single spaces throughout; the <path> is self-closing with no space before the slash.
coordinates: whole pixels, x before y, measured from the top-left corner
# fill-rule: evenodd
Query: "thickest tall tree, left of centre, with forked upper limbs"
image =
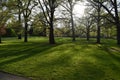
<path id="1" fill-rule="evenodd" d="M 49 43 L 55 44 L 54 39 L 54 14 L 59 0 L 38 0 L 43 15 L 49 24 Z"/>

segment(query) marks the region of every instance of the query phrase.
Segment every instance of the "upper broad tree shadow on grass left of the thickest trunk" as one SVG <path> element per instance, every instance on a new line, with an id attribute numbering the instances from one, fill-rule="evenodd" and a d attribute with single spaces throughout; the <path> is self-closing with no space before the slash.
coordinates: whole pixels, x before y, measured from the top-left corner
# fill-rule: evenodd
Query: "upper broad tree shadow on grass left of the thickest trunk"
<path id="1" fill-rule="evenodd" d="M 12 56 L 19 56 L 22 54 L 28 54 L 31 50 L 35 50 L 37 48 L 49 48 L 48 43 L 38 43 L 38 42 L 28 42 L 28 43 L 21 43 L 17 42 L 16 44 L 5 45 L 0 48 L 0 58 L 12 57 Z M 53 45 L 54 46 L 54 45 Z M 57 45 L 56 45 L 57 46 Z M 27 52 L 26 52 L 27 51 Z"/>

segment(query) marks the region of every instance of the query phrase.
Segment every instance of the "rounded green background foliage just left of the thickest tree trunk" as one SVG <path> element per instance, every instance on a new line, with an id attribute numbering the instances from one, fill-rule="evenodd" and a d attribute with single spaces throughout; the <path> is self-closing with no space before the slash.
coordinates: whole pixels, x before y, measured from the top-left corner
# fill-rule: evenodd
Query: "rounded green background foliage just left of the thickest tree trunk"
<path id="1" fill-rule="evenodd" d="M 46 29 L 48 29 L 48 24 L 42 12 L 35 15 L 31 29 L 33 29 L 32 35 L 36 35 L 36 36 L 46 35 Z"/>

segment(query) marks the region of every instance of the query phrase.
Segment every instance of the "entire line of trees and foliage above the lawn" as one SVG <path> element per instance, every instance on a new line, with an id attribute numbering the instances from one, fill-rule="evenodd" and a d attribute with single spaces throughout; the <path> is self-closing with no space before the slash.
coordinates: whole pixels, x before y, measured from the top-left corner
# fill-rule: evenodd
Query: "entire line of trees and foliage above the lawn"
<path id="1" fill-rule="evenodd" d="M 48 36 L 54 37 L 113 38 L 120 45 L 120 1 L 84 0 L 85 13 L 76 18 L 74 6 L 83 0 L 0 0 L 1 37 Z M 58 12 L 57 12 L 58 10 Z M 59 15 L 59 16 L 58 16 Z"/>

